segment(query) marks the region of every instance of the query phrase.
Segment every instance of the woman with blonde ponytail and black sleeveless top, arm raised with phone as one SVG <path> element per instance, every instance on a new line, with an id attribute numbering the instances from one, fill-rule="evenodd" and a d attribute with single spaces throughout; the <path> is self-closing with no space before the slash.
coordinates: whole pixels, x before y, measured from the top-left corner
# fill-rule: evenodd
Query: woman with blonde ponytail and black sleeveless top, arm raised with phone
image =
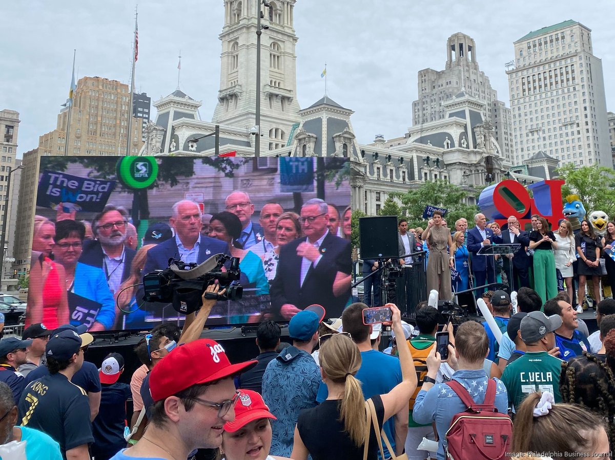
<path id="1" fill-rule="evenodd" d="M 392 310 L 392 327 L 397 337 L 404 337 L 400 311 Z M 363 458 L 365 433 L 369 419 L 365 413 L 365 399 L 361 383 L 355 374 L 361 367 L 359 348 L 346 333 L 332 335 L 320 346 L 320 373 L 327 384 L 328 397 L 319 406 L 300 413 L 295 428 L 295 442 L 291 458 L 306 460 L 344 460 Z M 402 382 L 387 394 L 371 397 L 376 408 L 378 425 L 404 407 L 416 389 L 416 372 L 410 349 L 399 348 Z M 379 435 L 379 434 L 378 434 Z M 378 439 L 370 429 L 368 460 L 378 458 Z"/>

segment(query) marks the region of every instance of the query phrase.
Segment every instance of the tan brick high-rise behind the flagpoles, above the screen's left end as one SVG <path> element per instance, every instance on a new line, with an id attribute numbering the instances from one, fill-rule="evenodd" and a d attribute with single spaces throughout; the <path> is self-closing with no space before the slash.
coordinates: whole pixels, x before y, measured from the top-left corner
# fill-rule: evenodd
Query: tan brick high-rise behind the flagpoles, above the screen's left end
<path id="1" fill-rule="evenodd" d="M 102 77 L 82 77 L 73 95 L 68 136 L 68 107 L 55 130 L 39 137 L 40 155 L 126 155 L 130 110 L 128 85 Z M 143 145 L 143 122 L 133 118 L 130 155 Z M 68 146 L 66 142 L 68 139 Z"/>

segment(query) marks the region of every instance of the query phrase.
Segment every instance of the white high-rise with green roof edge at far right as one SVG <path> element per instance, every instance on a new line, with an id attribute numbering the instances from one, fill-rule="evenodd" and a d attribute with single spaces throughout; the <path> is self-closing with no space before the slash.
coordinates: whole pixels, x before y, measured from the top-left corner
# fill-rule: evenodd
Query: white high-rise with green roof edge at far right
<path id="1" fill-rule="evenodd" d="M 514 42 L 509 77 L 515 163 L 542 150 L 574 165 L 612 165 L 602 61 L 589 28 L 568 20 Z"/>

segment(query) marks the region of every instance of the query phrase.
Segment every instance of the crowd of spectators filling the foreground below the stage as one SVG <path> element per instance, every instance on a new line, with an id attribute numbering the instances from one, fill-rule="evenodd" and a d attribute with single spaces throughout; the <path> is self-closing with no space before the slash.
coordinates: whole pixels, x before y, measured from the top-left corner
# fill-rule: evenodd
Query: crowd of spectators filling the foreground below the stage
<path id="1" fill-rule="evenodd" d="M 367 305 L 332 322 L 311 305 L 288 322 L 292 343 L 280 343 L 277 322 L 261 322 L 260 353 L 237 364 L 200 338 L 215 304 L 203 295 L 183 329 L 161 324 L 141 338 L 130 385 L 120 381 L 122 354 L 100 367 L 84 360 L 93 341 L 85 326 L 33 324 L 21 339 L 0 340 L 2 445 L 26 441 L 26 459 L 457 459 L 475 449 L 451 434 L 472 406 L 499 417 L 502 430 L 494 435 L 490 422 L 487 453 L 473 458 L 608 458 L 615 300 L 598 303 L 598 330 L 587 337 L 565 292 L 542 303 L 522 287 L 515 314 L 506 292 L 483 295 L 501 338 L 487 322 L 445 324 L 427 302 L 411 326 L 389 303 L 393 341 L 384 348 L 385 328 L 364 324 Z"/>

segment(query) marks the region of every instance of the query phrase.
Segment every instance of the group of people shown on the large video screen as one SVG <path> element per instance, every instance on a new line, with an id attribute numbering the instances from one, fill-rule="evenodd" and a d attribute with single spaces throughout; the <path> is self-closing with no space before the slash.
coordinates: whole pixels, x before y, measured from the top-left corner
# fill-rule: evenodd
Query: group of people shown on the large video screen
<path id="1" fill-rule="evenodd" d="M 300 308 L 325 300 L 341 311 L 350 296 L 349 207 L 340 212 L 313 199 L 296 214 L 268 201 L 256 219 L 250 196 L 239 190 L 224 205 L 225 211 L 212 215 L 193 201 L 178 201 L 168 223 L 151 224 L 141 240 L 127 210 L 110 204 L 91 221 L 77 219 L 76 211 L 65 212 L 61 205 L 55 221 L 36 216 L 26 326 L 85 324 L 90 332 L 143 328 L 146 308 L 137 284 L 144 275 L 164 270 L 171 258 L 199 264 L 220 253 L 239 258 L 246 294 L 271 294 L 270 311 L 250 312 L 253 316 L 235 322 L 290 319 Z M 316 284 L 318 295 L 312 294 Z"/>

